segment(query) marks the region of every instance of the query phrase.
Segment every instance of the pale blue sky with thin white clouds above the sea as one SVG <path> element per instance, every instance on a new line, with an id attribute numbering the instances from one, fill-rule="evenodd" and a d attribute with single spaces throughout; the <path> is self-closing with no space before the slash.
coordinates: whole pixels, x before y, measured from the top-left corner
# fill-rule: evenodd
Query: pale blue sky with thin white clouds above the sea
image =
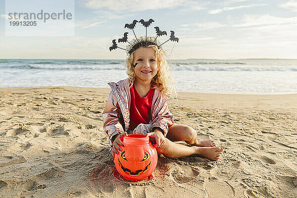
<path id="1" fill-rule="evenodd" d="M 150 18 L 148 35 L 158 26 L 161 43 L 170 30 L 179 38 L 163 45 L 169 59 L 297 58 L 297 0 L 75 0 L 74 15 L 75 36 L 7 37 L 0 0 L 0 58 L 125 59 L 109 51 L 112 40 L 129 32 L 130 41 L 124 25 Z M 145 31 L 136 25 L 137 36 Z"/>

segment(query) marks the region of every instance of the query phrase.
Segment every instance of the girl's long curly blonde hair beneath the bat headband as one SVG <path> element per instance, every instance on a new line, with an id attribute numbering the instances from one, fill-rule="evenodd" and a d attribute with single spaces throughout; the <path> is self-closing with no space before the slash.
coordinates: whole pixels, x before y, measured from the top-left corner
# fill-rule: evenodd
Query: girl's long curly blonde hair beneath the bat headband
<path id="1" fill-rule="evenodd" d="M 147 37 L 148 42 L 154 42 L 158 46 L 160 43 L 155 40 L 155 37 Z M 145 37 L 139 37 L 138 38 L 139 42 L 145 42 L 146 38 Z M 135 44 L 139 43 L 136 39 L 132 40 L 130 43 L 135 46 Z M 158 70 L 157 74 L 151 79 L 151 84 L 153 85 L 154 89 L 157 89 L 160 91 L 161 95 L 163 97 L 168 97 L 171 99 L 177 99 L 177 91 L 173 82 L 173 79 L 169 75 L 169 69 L 168 69 L 168 64 L 165 59 L 165 51 L 156 45 L 149 45 L 149 46 L 141 46 L 143 48 L 151 48 L 155 51 L 155 57 L 157 59 L 157 65 L 158 65 Z M 125 66 L 127 67 L 126 73 L 129 77 L 129 81 L 131 84 L 133 84 L 136 74 L 134 72 L 134 66 L 133 66 L 133 60 L 134 60 L 134 52 L 135 50 L 130 54 L 128 51 L 132 49 L 131 46 L 127 46 L 127 55 L 128 57 L 126 58 L 125 61 Z"/>

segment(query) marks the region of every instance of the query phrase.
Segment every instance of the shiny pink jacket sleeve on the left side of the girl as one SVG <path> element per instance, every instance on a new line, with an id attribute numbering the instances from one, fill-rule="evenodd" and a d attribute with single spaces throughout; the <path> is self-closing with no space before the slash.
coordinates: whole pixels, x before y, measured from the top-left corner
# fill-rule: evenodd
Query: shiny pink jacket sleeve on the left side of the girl
<path id="1" fill-rule="evenodd" d="M 112 148 L 112 137 L 116 134 L 124 132 L 123 126 L 121 124 L 122 112 L 112 91 L 109 93 L 105 108 L 102 113 L 102 117 L 103 130 L 105 131 L 105 133 L 107 133 L 109 145 Z"/>

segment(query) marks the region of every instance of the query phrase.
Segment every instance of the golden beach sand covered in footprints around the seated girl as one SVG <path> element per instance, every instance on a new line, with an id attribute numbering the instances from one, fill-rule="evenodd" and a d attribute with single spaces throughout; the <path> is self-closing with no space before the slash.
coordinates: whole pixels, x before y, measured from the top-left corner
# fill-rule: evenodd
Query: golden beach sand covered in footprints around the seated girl
<path id="1" fill-rule="evenodd" d="M 124 181 L 102 128 L 109 89 L 0 88 L 0 197 L 296 198 L 297 95 L 180 93 L 175 123 L 213 139 L 218 161 L 159 155 Z"/>

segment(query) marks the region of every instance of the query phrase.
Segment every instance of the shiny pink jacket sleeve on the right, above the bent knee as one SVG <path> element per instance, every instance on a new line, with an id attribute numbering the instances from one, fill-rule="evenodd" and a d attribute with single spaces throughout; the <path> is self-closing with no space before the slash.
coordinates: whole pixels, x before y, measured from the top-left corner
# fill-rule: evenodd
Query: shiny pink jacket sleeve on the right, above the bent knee
<path id="1" fill-rule="evenodd" d="M 154 130 L 154 128 L 159 127 L 161 130 L 163 130 L 164 136 L 166 136 L 168 133 L 168 128 L 173 124 L 173 115 L 169 111 L 167 101 L 165 101 L 152 120 L 151 132 Z"/>

